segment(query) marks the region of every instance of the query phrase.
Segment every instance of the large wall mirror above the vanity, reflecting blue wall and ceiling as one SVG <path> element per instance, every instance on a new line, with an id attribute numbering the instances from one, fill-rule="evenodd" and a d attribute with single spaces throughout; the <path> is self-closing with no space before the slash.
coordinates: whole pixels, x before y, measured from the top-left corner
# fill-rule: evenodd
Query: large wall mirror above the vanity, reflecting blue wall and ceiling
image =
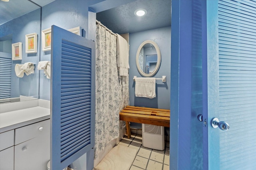
<path id="1" fill-rule="evenodd" d="M 28 0 L 0 1 L 0 104 L 38 98 L 39 71 L 36 66 L 40 51 L 26 53 L 26 35 L 37 34 L 39 49 L 40 16 L 40 7 Z M 12 44 L 19 42 L 22 43 L 22 60 L 12 60 Z M 34 73 L 17 77 L 16 64 L 28 62 L 35 64 Z"/>

